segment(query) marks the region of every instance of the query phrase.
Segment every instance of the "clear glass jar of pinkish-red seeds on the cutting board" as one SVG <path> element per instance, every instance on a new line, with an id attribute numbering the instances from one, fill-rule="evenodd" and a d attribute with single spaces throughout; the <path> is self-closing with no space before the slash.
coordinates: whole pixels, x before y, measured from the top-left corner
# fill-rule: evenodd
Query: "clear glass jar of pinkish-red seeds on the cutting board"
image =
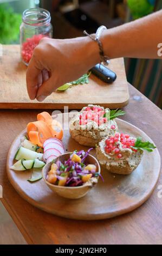
<path id="1" fill-rule="evenodd" d="M 21 59 L 28 65 L 34 48 L 43 37 L 52 38 L 53 27 L 49 11 L 42 8 L 25 10 L 20 26 Z"/>

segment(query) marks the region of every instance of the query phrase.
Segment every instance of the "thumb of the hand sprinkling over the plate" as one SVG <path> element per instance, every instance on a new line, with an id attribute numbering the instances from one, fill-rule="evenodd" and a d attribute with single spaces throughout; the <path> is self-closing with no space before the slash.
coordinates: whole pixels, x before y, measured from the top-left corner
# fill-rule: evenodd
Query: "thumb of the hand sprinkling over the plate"
<path id="1" fill-rule="evenodd" d="M 54 92 L 55 88 L 55 78 L 52 75 L 48 80 L 44 81 L 42 85 L 37 90 L 36 99 L 38 101 L 43 101 L 49 96 L 51 93 Z"/>

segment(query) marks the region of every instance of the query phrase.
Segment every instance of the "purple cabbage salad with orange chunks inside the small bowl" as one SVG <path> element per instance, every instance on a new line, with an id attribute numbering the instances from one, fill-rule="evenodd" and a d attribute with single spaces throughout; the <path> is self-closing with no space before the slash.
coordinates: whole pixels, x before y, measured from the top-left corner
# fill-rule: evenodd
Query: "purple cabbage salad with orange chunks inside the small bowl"
<path id="1" fill-rule="evenodd" d="M 87 152 L 84 150 L 75 150 L 68 160 L 64 162 L 57 160 L 57 170 L 55 172 L 57 180 L 55 181 L 55 185 L 66 187 L 82 186 L 90 178 L 101 176 L 96 172 L 96 166 L 86 161 L 92 149 L 88 149 Z"/>

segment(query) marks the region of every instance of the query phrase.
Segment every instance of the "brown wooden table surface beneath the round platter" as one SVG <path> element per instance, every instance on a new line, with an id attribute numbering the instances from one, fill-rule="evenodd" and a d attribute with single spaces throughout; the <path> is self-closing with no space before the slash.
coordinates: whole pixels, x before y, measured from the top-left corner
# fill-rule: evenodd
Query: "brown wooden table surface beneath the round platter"
<path id="1" fill-rule="evenodd" d="M 162 153 L 161 110 L 129 86 L 130 101 L 124 120 L 150 136 Z M 74 221 L 47 214 L 25 202 L 8 181 L 5 169 L 8 150 L 14 138 L 40 110 L 1 109 L 0 185 L 2 203 L 30 244 L 139 244 L 162 243 L 162 198 L 158 186 L 150 199 L 129 214 L 102 221 Z M 159 193 L 160 194 L 160 193 Z M 161 192 L 162 196 L 162 192 Z"/>

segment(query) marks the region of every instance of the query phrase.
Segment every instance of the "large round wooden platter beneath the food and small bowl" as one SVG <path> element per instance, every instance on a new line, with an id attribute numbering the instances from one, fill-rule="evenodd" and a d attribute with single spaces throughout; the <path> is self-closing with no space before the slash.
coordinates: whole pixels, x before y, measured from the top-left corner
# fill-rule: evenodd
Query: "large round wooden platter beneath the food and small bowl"
<path id="1" fill-rule="evenodd" d="M 67 122 L 64 127 L 68 125 L 68 119 L 64 119 Z M 146 133 L 132 124 L 121 119 L 116 119 L 116 123 L 120 132 L 128 133 L 134 137 L 141 136 L 146 141 L 152 142 Z M 155 149 L 152 153 L 144 152 L 141 163 L 132 174 L 112 174 L 101 168 L 105 182 L 99 179 L 98 184 L 83 198 L 62 198 L 51 191 L 43 179 L 33 184 L 29 183 L 27 179 L 31 175 L 31 170 L 15 172 L 10 169 L 21 137 L 25 132 L 25 130 L 22 131 L 11 145 L 7 160 L 8 178 L 21 197 L 43 211 L 76 220 L 111 218 L 138 208 L 151 196 L 157 184 L 160 173 L 160 155 Z M 68 129 L 64 130 L 63 143 L 68 152 L 75 149 L 88 149 L 70 138 Z M 95 156 L 95 149 L 93 149 L 92 154 Z"/>

